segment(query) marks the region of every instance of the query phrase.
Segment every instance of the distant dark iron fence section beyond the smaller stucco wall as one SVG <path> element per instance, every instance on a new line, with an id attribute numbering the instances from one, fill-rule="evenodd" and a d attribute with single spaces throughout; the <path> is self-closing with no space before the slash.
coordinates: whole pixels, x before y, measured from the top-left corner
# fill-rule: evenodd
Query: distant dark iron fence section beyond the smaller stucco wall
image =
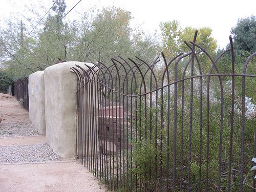
<path id="1" fill-rule="evenodd" d="M 24 77 L 14 82 L 14 95 L 24 109 L 29 111 L 29 78 Z"/>

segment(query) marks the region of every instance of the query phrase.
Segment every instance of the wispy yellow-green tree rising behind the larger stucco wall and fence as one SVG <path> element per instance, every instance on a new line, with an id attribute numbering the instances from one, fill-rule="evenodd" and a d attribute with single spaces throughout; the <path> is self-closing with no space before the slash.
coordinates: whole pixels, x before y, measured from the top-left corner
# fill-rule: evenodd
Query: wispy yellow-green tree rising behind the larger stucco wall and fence
<path id="1" fill-rule="evenodd" d="M 85 13 L 81 24 L 76 24 L 82 27 L 80 34 L 76 35 L 74 59 L 106 62 L 118 55 L 154 58 L 159 47 L 153 40 L 154 36 L 145 35 L 140 29 L 135 31 L 130 27 L 131 19 L 129 11 L 115 7 L 104 8 L 92 19 Z"/>

